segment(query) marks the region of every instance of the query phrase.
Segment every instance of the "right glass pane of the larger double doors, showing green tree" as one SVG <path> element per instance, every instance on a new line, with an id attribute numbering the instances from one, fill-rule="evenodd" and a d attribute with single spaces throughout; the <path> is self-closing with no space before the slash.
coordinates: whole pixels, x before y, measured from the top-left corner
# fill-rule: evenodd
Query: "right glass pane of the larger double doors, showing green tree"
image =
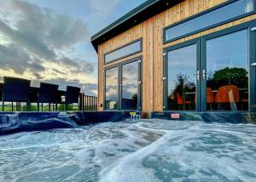
<path id="1" fill-rule="evenodd" d="M 248 110 L 248 32 L 207 41 L 207 110 Z"/>

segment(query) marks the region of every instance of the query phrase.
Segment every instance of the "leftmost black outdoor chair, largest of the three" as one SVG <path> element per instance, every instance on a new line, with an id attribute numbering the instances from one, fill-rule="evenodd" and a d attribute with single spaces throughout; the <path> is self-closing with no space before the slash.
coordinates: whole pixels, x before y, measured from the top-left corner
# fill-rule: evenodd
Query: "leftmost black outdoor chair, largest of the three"
<path id="1" fill-rule="evenodd" d="M 4 111 L 4 102 L 12 103 L 14 111 L 14 102 L 26 102 L 26 111 L 29 111 L 29 88 L 30 80 L 17 77 L 3 77 L 3 98 L 2 110 Z"/>

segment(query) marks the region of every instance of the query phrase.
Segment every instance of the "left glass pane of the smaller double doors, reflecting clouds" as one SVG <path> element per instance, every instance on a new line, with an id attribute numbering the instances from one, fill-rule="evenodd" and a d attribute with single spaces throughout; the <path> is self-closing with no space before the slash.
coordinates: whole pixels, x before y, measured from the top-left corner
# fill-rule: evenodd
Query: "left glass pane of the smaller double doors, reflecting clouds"
<path id="1" fill-rule="evenodd" d="M 118 67 L 108 69 L 105 71 L 106 74 L 106 99 L 105 109 L 106 110 L 117 110 L 119 100 L 119 81 L 118 81 Z"/>

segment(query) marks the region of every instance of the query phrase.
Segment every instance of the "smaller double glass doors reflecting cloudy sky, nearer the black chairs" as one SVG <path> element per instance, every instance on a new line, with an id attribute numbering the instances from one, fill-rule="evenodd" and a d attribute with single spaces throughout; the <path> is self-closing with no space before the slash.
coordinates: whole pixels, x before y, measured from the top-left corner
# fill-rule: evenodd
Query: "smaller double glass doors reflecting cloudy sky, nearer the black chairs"
<path id="1" fill-rule="evenodd" d="M 141 59 L 105 70 L 105 110 L 141 110 Z"/>

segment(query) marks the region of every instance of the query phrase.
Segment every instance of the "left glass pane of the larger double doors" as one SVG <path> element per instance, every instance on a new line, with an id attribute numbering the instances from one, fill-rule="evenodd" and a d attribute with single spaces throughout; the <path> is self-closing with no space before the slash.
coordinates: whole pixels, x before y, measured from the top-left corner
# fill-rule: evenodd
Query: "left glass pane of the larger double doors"
<path id="1" fill-rule="evenodd" d="M 168 53 L 168 110 L 195 110 L 195 76 L 195 44 L 184 48 L 178 48 Z"/>

